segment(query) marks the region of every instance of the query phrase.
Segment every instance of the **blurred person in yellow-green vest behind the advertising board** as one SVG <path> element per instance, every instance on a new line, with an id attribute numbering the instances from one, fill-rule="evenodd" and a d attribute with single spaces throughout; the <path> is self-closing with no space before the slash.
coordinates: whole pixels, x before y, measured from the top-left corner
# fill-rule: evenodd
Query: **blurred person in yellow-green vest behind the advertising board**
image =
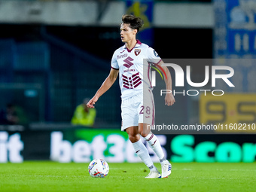
<path id="1" fill-rule="evenodd" d="M 83 125 L 83 126 L 93 126 L 96 118 L 96 109 L 88 108 L 87 102 L 90 99 L 84 99 L 84 102 L 78 105 L 75 108 L 74 115 L 72 117 L 71 123 L 74 125 Z"/>

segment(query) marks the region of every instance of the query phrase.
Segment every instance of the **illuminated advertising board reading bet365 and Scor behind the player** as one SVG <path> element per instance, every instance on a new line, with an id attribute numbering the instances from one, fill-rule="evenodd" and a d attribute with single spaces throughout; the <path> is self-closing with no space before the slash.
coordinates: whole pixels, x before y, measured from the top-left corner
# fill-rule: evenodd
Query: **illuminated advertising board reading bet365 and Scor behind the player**
<path id="1" fill-rule="evenodd" d="M 254 135 L 158 135 L 158 138 L 172 162 L 252 163 L 256 157 Z M 158 162 L 148 144 L 146 147 L 152 160 Z M 140 162 L 128 136 L 120 130 L 0 131 L 0 163 L 24 160 L 88 163 L 99 157 L 108 162 Z"/>

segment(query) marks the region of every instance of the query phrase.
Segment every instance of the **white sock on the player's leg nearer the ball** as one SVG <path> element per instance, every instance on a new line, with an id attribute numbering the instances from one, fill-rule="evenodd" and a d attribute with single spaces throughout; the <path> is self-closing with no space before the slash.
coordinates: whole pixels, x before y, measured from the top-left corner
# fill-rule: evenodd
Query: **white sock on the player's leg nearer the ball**
<path id="1" fill-rule="evenodd" d="M 151 166 L 154 168 L 154 164 L 148 154 L 148 150 L 140 139 L 138 142 L 133 143 L 133 148 L 136 151 L 136 154 L 138 154 L 139 158 L 141 158 L 148 168 L 151 168 Z"/>

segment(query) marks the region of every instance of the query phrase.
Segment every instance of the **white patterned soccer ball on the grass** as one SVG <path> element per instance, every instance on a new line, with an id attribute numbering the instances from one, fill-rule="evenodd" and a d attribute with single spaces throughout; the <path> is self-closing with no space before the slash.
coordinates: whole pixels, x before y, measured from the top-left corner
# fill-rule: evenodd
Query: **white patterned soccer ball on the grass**
<path id="1" fill-rule="evenodd" d="M 105 178 L 108 175 L 109 166 L 105 160 L 96 159 L 90 162 L 88 170 L 93 178 Z"/>

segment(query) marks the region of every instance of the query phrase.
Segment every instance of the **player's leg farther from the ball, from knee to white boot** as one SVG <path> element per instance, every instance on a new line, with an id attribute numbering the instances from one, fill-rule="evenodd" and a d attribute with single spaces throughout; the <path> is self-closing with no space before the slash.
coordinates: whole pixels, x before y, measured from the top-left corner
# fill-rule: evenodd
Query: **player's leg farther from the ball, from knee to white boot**
<path id="1" fill-rule="evenodd" d="M 148 127 L 150 127 L 150 126 L 148 126 L 148 124 L 146 124 L 146 123 L 139 123 L 139 133 L 148 142 L 148 145 L 153 149 L 155 154 L 157 154 L 157 157 L 159 158 L 161 166 L 162 166 L 162 176 L 161 177 L 166 178 L 172 172 L 172 165 L 164 157 L 163 149 L 160 145 L 159 140 L 157 139 L 157 136 L 154 135 L 154 133 L 152 133 L 151 130 L 148 129 Z"/>

